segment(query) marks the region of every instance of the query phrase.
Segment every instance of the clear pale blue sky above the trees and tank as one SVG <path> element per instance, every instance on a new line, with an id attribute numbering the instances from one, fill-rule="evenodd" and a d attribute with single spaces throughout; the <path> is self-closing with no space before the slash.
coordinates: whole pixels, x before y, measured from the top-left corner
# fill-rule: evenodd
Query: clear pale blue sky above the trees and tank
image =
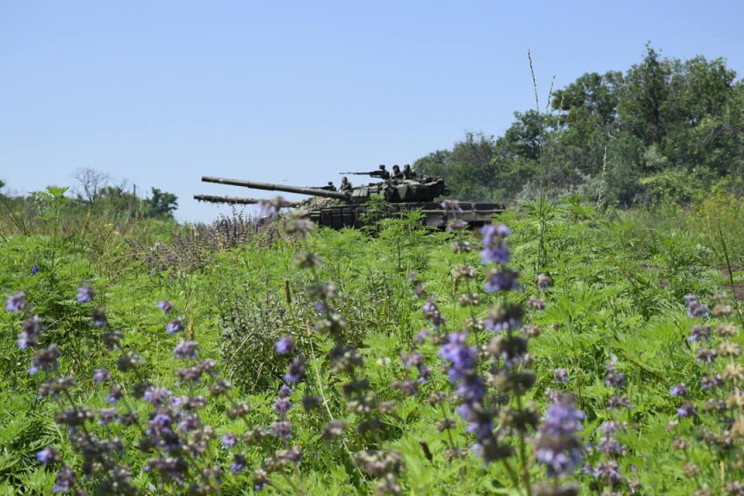
<path id="1" fill-rule="evenodd" d="M 744 74 L 744 1 L 0 1 L 0 179 L 93 168 L 179 197 L 181 221 L 269 198 L 202 175 L 320 186 L 500 135 L 550 81 L 663 56 Z"/>

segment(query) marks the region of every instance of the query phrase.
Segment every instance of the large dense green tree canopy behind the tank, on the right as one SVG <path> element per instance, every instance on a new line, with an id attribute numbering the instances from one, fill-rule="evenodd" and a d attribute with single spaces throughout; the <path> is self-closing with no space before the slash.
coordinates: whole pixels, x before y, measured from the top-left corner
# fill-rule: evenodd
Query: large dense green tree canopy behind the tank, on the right
<path id="1" fill-rule="evenodd" d="M 647 45 L 625 74 L 584 74 L 554 92 L 550 113 L 514 117 L 503 136 L 466 133 L 414 170 L 446 177 L 465 200 L 528 198 L 541 183 L 622 206 L 714 185 L 742 193 L 744 82 L 723 59 L 667 59 Z"/>

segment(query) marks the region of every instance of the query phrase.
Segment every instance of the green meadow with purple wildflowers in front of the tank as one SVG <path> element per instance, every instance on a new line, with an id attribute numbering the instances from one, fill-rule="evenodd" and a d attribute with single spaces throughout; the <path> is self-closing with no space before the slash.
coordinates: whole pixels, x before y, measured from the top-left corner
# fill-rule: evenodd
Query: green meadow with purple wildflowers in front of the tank
<path id="1" fill-rule="evenodd" d="M 744 494 L 744 201 L 446 206 L 2 221 L 0 494 Z"/>

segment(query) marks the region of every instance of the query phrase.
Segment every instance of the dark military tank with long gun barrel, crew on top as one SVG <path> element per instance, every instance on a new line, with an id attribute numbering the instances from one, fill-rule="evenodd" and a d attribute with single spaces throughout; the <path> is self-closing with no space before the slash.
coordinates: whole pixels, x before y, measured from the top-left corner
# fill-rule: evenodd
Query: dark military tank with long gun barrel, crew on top
<path id="1" fill-rule="evenodd" d="M 378 176 L 379 171 L 347 173 L 364 174 L 372 177 Z M 285 186 L 281 184 L 263 183 L 257 181 L 245 181 L 240 179 L 226 179 L 221 177 L 204 176 L 202 181 L 207 183 L 227 184 L 242 186 L 250 189 L 266 191 L 281 191 L 307 195 L 315 198 L 328 199 L 326 201 L 310 201 L 306 207 L 310 211 L 310 220 L 317 225 L 342 229 L 344 227 L 357 228 L 364 225 L 364 213 L 366 204 L 373 196 L 382 197 L 387 205 L 386 215 L 396 215 L 409 211 L 421 210 L 423 223 L 427 226 L 445 228 L 451 217 L 442 208 L 437 198 L 449 194 L 444 178 L 436 176 L 422 176 L 410 179 L 385 179 L 376 183 L 351 187 L 346 190 L 334 190 L 328 186 L 312 188 L 301 186 Z M 255 203 L 252 198 L 243 198 L 240 201 L 235 197 L 214 197 L 197 195 L 194 198 L 219 202 L 219 198 L 225 198 L 224 203 Z M 292 204 L 297 206 L 297 203 Z M 504 211 L 504 205 L 498 203 L 476 203 L 459 202 L 462 212 L 457 217 L 468 223 L 469 226 L 478 227 L 491 222 L 495 214 Z"/>

